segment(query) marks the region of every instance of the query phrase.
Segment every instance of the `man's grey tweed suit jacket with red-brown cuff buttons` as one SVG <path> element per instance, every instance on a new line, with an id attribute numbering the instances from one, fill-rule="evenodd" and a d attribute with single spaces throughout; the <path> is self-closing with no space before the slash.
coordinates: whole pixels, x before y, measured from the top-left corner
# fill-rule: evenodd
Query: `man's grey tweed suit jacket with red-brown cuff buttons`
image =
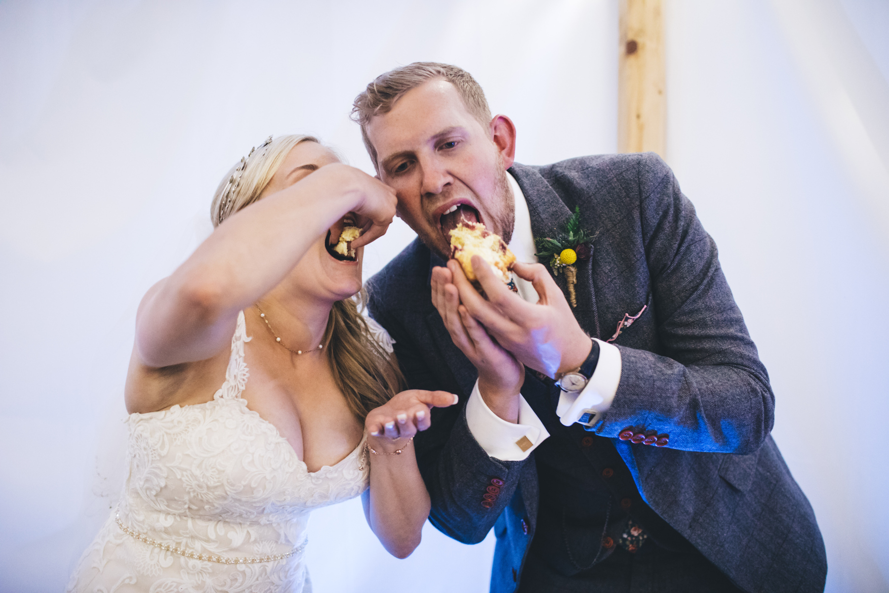
<path id="1" fill-rule="evenodd" d="M 645 502 L 741 589 L 823 590 L 827 563 L 813 510 L 769 436 L 768 375 L 716 244 L 669 167 L 647 153 L 516 164 L 509 172 L 525 193 L 535 237 L 555 236 L 575 206 L 597 233 L 592 256 L 578 264 L 574 309 L 589 335 L 607 339 L 624 313 L 648 305 L 614 342 L 621 382 L 593 427 L 613 439 Z M 432 428 L 415 441 L 429 520 L 467 543 L 496 524 L 491 590 L 513 591 L 536 525 L 534 455 L 493 459 L 469 432 L 464 405 L 477 373 L 430 301 L 431 269 L 443 264 L 414 241 L 372 277 L 369 307 L 396 340 L 412 388 L 461 396 L 460 405 L 434 410 Z M 564 275 L 556 281 L 564 288 Z M 532 383 L 523 387 L 529 404 L 551 414 L 545 398 L 532 397 Z M 668 433 L 669 445 L 619 440 L 629 427 Z M 480 502 L 493 480 L 502 485 L 487 509 Z"/>

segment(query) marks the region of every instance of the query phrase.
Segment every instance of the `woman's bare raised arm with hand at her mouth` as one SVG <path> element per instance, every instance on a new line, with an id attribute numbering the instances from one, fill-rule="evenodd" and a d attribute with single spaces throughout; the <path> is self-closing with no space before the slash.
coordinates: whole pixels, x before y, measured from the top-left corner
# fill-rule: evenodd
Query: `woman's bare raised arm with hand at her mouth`
<path id="1" fill-rule="evenodd" d="M 155 284 L 136 317 L 136 353 L 164 367 L 225 349 L 238 311 L 280 283 L 310 244 L 347 212 L 368 220 L 354 247 L 381 236 L 395 192 L 346 164 L 327 164 L 228 217 L 171 276 Z M 267 188 L 273 189 L 273 188 Z"/>

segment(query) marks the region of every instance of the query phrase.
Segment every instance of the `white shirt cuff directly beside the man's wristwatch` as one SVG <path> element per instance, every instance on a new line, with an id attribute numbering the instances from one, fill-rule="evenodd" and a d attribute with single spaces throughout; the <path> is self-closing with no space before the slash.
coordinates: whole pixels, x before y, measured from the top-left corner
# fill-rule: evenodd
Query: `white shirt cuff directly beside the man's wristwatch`
<path id="1" fill-rule="evenodd" d="M 584 414 L 589 414 L 584 423 L 592 426 L 611 407 L 621 383 L 621 350 L 606 341 L 593 340 L 599 344 L 596 371 L 580 392 L 563 391 L 559 397 L 556 414 L 565 426 L 581 420 Z"/>

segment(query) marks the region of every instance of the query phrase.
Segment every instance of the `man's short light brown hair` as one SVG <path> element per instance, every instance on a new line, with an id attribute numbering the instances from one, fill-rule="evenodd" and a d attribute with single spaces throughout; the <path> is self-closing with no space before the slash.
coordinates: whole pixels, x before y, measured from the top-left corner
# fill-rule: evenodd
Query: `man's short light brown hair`
<path id="1" fill-rule="evenodd" d="M 434 61 L 415 61 L 407 66 L 389 70 L 374 78 L 352 104 L 352 120 L 361 125 L 364 148 L 367 148 L 374 167 L 377 166 L 377 151 L 367 137 L 368 124 L 374 116 L 391 111 L 396 100 L 401 99 L 405 92 L 436 79 L 453 84 L 460 93 L 467 111 L 483 126 L 491 123 L 491 108 L 485 99 L 485 91 L 463 68 Z"/>

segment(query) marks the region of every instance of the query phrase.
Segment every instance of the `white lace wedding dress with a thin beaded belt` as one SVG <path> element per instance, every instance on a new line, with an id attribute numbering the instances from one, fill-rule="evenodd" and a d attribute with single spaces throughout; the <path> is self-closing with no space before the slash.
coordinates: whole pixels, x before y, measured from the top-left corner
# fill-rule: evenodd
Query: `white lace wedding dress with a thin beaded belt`
<path id="1" fill-rule="evenodd" d="M 369 322 L 391 350 L 385 330 Z M 226 381 L 212 401 L 130 414 L 124 493 L 68 591 L 311 591 L 303 559 L 308 514 L 368 487 L 364 439 L 339 463 L 309 472 L 241 398 L 247 341 L 242 312 Z"/>

